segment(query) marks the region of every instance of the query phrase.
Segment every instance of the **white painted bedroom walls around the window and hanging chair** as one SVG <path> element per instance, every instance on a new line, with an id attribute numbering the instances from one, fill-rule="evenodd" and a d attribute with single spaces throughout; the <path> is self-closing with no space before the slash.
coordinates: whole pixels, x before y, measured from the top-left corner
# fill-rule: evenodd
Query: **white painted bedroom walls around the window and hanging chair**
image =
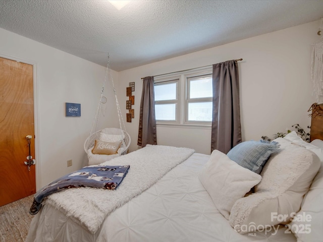
<path id="1" fill-rule="evenodd" d="M 126 117 L 126 87 L 135 82 L 135 118 L 126 123 L 132 143 L 138 149 L 141 78 L 212 65 L 229 59 L 239 62 L 241 125 L 243 140 L 259 140 L 285 132 L 299 123 L 310 124 L 308 108 L 315 101 L 310 81 L 311 43 L 319 21 L 252 37 L 167 59 L 165 61 L 114 72 L 118 99 Z M 83 143 L 88 136 L 96 111 L 104 67 L 51 48 L 39 42 L 0 29 L 0 56 L 33 64 L 36 106 L 36 183 L 37 189 L 86 164 Z M 113 60 L 111 60 L 113 61 Z M 119 83 L 118 83 L 119 80 Z M 110 84 L 106 84 L 107 104 L 103 106 L 99 128 L 119 127 L 117 110 Z M 119 88 L 118 88 L 119 87 Z M 65 117 L 65 102 L 81 103 L 81 117 Z M 160 145 L 194 148 L 209 154 L 210 130 L 157 128 Z M 66 161 L 72 159 L 73 166 Z"/>

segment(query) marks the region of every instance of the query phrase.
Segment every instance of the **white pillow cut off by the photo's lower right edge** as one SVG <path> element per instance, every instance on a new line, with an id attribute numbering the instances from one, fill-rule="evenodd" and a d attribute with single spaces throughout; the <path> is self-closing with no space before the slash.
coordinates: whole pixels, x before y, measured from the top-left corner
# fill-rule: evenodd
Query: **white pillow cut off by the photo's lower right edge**
<path id="1" fill-rule="evenodd" d="M 297 241 L 323 241 L 323 163 L 288 228 Z"/>

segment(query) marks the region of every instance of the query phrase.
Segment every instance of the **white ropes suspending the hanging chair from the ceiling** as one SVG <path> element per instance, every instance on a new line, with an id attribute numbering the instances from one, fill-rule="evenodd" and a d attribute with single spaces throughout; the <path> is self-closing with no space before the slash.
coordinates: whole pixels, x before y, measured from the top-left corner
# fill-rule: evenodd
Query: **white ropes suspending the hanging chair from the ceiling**
<path id="1" fill-rule="evenodd" d="M 111 74 L 111 71 L 110 71 L 110 56 L 108 54 L 108 56 L 107 56 L 107 66 L 106 66 L 105 75 L 104 75 L 104 81 L 103 81 L 103 85 L 102 85 L 102 89 L 101 89 L 100 99 L 99 99 L 97 109 L 96 109 L 96 113 L 95 113 L 95 116 L 94 116 L 94 120 L 93 120 L 93 123 L 92 123 L 90 136 L 98 131 L 97 127 L 98 127 L 99 118 L 100 118 L 102 97 L 103 97 L 103 92 L 104 92 L 104 86 L 105 86 L 105 83 L 106 83 L 107 79 L 111 80 L 111 84 L 112 84 L 112 87 L 113 87 L 113 92 L 114 92 L 115 99 L 116 99 L 116 105 L 117 105 L 120 129 L 123 130 L 124 132 L 127 132 L 125 122 L 124 122 L 124 119 L 123 119 L 123 116 L 122 116 L 122 112 L 121 112 L 121 109 L 120 109 L 118 97 L 117 97 L 115 83 L 113 81 L 113 77 L 112 77 L 112 74 Z M 127 139 L 126 142 L 127 142 L 127 144 L 129 144 L 129 138 L 128 138 L 128 136 L 125 135 L 124 132 L 122 132 L 122 145 L 123 146 L 125 145 L 125 143 L 124 143 L 125 139 Z"/>

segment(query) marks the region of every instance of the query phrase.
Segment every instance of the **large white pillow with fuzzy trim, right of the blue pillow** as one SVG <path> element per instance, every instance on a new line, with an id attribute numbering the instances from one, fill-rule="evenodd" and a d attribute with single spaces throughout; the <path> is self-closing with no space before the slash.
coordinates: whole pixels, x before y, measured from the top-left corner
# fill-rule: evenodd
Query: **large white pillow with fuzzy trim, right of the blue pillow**
<path id="1" fill-rule="evenodd" d="M 236 201 L 229 222 L 239 233 L 254 226 L 269 227 L 290 222 L 320 166 L 318 157 L 303 147 L 281 149 L 271 155 L 260 175 L 255 193 Z M 276 215 L 276 216 L 275 216 Z M 282 221 L 280 216 L 286 216 Z"/>

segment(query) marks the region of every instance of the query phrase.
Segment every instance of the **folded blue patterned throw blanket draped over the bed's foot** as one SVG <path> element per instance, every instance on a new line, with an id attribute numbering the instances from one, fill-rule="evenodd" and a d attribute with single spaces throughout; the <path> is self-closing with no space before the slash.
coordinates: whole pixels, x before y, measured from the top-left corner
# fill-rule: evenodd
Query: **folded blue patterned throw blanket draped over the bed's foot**
<path id="1" fill-rule="evenodd" d="M 39 190 L 34 197 L 29 213 L 35 215 L 41 202 L 50 194 L 70 188 L 92 187 L 115 190 L 127 174 L 130 165 L 124 166 L 86 166 L 62 176 Z"/>

